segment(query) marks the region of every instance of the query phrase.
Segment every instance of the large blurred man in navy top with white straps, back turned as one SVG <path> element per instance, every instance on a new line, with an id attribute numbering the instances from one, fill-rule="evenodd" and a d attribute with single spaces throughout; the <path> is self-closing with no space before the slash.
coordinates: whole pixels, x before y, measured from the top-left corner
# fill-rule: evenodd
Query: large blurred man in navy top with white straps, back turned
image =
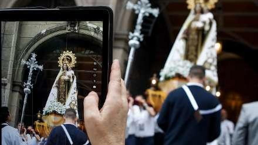
<path id="1" fill-rule="evenodd" d="M 157 123 L 165 132 L 164 145 L 206 145 L 220 135 L 218 99 L 203 88 L 205 68 L 192 66 L 189 83 L 169 93 Z"/>

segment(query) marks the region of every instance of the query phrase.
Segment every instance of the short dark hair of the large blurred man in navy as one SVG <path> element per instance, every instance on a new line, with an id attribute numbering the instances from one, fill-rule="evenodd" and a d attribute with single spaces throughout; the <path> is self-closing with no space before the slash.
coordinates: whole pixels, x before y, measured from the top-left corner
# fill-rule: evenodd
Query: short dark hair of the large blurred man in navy
<path id="1" fill-rule="evenodd" d="M 203 79 L 205 77 L 205 68 L 200 65 L 194 65 L 190 69 L 189 76 L 191 78 Z"/>

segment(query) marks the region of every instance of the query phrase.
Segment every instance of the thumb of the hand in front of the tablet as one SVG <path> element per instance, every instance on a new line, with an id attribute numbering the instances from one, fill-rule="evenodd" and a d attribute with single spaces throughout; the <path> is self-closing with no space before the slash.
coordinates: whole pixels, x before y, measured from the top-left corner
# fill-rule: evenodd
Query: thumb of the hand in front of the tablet
<path id="1" fill-rule="evenodd" d="M 99 97 L 94 91 L 91 91 L 85 98 L 83 102 L 84 106 L 84 123 L 87 124 L 89 120 L 95 120 L 99 115 Z"/>

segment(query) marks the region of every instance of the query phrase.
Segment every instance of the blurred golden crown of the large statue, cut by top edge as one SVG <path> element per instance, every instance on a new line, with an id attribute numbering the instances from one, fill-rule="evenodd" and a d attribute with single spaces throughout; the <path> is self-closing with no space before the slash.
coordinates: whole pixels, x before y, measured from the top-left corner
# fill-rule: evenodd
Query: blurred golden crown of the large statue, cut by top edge
<path id="1" fill-rule="evenodd" d="M 215 8 L 215 4 L 218 2 L 218 0 L 186 0 L 186 3 L 188 4 L 188 9 L 193 9 L 195 4 L 199 3 L 202 6 L 206 6 L 209 10 L 212 8 Z"/>

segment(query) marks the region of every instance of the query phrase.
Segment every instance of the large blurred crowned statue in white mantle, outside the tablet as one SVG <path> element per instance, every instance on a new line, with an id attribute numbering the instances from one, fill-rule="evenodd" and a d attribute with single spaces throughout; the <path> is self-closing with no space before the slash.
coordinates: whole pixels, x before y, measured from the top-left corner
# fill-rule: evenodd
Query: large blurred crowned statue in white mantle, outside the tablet
<path id="1" fill-rule="evenodd" d="M 160 72 L 160 81 L 173 77 L 187 77 L 193 65 L 206 68 L 206 82 L 215 87 L 218 83 L 216 21 L 209 11 L 218 0 L 187 0 L 191 9 L 173 44 L 164 68 Z"/>

